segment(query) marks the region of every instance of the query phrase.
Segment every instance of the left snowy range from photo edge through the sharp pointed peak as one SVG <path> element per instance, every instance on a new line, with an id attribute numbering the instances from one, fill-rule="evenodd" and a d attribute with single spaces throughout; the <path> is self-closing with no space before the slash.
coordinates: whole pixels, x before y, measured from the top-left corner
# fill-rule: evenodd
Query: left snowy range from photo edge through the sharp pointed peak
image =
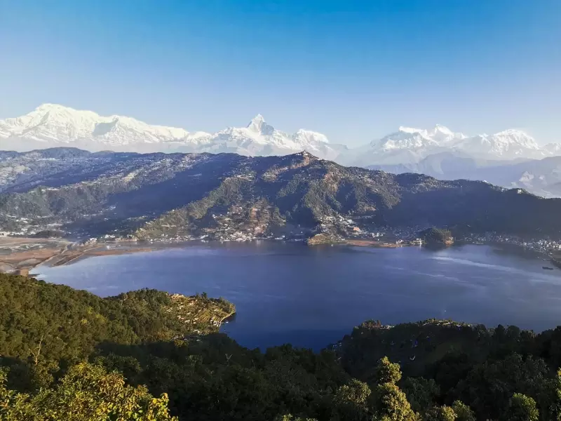
<path id="1" fill-rule="evenodd" d="M 299 130 L 290 135 L 266 124 L 258 114 L 247 127 L 217 133 L 153 126 L 126 116 L 100 116 L 62 105 L 44 104 L 25 116 L 0 120 L 0 149 L 18 151 L 74 146 L 90 151 L 235 152 L 284 155 L 308 150 L 334 159 L 346 148 L 329 145 L 325 135 Z"/>

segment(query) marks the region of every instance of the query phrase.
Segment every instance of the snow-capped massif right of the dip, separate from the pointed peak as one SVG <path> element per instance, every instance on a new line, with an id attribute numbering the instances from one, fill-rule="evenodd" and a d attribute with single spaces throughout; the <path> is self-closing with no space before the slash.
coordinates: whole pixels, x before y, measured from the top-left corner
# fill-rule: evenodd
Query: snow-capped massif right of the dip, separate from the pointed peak
<path id="1" fill-rule="evenodd" d="M 514 129 L 493 135 L 466 136 L 439 125 L 431 130 L 400 127 L 396 133 L 354 149 L 344 161 L 359 166 L 407 165 L 442 152 L 486 161 L 512 161 L 558 155 L 561 145 L 540 147 L 527 133 Z"/>

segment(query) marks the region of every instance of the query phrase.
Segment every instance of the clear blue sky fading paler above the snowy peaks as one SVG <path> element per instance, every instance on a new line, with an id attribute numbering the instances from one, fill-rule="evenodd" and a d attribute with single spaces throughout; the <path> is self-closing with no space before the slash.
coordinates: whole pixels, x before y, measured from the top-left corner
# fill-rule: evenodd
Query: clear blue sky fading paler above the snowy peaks
<path id="1" fill-rule="evenodd" d="M 435 123 L 561 141 L 561 1 L 0 0 L 0 118 L 43 102 L 349 145 Z"/>

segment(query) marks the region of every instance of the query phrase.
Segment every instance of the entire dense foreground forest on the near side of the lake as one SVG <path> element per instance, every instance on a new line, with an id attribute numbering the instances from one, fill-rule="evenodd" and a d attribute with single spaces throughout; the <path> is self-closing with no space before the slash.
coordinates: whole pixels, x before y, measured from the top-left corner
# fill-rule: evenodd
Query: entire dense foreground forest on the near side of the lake
<path id="1" fill-rule="evenodd" d="M 185 319 L 230 303 L 174 297 L 1 274 L 0 420 L 561 419 L 561 328 L 367 321 L 262 352 Z"/>

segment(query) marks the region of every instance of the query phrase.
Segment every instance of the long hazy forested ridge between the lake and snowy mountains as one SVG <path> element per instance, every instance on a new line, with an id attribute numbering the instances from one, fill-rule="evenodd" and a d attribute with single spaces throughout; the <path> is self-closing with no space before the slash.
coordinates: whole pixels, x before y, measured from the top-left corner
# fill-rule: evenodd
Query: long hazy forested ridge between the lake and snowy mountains
<path id="1" fill-rule="evenodd" d="M 561 234 L 561 199 L 485 182 L 344 167 L 306 152 L 247 157 L 46 149 L 3 153 L 0 175 L 0 226 L 8 231 L 62 224 L 83 236 L 222 238 L 318 232 L 337 229 L 332 220 L 352 218 L 363 229 Z"/>

